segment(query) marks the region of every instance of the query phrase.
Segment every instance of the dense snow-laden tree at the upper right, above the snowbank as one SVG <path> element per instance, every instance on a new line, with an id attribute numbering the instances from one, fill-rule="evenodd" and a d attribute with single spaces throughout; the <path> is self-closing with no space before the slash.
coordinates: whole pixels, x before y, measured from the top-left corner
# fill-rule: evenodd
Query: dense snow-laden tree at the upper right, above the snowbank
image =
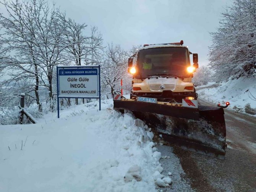
<path id="1" fill-rule="evenodd" d="M 256 78 L 256 1 L 235 0 L 211 33 L 210 66 L 216 78 Z"/>

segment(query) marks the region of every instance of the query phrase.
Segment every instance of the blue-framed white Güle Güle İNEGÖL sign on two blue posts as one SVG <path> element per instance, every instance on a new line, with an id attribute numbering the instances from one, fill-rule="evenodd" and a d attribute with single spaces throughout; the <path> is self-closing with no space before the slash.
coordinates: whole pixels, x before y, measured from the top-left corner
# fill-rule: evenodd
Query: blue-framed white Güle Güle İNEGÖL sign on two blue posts
<path id="1" fill-rule="evenodd" d="M 57 66 L 57 106 L 59 98 L 98 98 L 100 109 L 100 65 Z"/>

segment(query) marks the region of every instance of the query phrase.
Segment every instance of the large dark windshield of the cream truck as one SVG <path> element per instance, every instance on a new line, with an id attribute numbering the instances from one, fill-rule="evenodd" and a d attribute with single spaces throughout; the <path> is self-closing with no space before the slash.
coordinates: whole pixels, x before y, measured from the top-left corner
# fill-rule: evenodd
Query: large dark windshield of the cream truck
<path id="1" fill-rule="evenodd" d="M 188 49 L 185 47 L 149 48 L 140 50 L 138 55 L 138 67 L 142 77 L 187 76 L 188 65 Z"/>

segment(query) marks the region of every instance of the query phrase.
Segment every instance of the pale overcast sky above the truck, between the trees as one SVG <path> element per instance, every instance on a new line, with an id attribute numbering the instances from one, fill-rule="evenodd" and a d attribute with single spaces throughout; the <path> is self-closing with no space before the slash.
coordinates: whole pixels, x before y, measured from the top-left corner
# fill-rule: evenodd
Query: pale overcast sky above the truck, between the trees
<path id="1" fill-rule="evenodd" d="M 50 2 L 50 1 L 49 1 Z M 220 12 L 232 0 L 54 0 L 78 23 L 97 26 L 104 43 L 132 45 L 184 41 L 206 65 L 209 32 L 219 26 Z M 89 30 L 89 27 L 88 27 Z"/>

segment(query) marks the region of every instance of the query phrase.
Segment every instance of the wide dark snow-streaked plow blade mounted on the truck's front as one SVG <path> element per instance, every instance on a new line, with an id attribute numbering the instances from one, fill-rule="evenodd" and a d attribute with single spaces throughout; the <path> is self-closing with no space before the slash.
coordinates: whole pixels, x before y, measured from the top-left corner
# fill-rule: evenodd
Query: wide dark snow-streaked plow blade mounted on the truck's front
<path id="1" fill-rule="evenodd" d="M 114 109 L 132 111 L 136 118 L 162 134 L 164 140 L 207 156 L 224 159 L 226 127 L 224 110 L 198 105 L 198 108 L 158 103 L 114 100 Z"/>

